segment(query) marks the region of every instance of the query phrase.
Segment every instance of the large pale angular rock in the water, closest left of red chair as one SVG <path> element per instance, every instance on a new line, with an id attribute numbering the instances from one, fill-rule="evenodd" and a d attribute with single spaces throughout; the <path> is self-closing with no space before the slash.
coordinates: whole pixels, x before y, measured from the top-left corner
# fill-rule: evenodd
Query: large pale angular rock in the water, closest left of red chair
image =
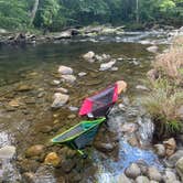
<path id="1" fill-rule="evenodd" d="M 64 106 L 69 99 L 69 96 L 66 94 L 55 93 L 54 101 L 52 104 L 52 108 L 56 109 Z"/>

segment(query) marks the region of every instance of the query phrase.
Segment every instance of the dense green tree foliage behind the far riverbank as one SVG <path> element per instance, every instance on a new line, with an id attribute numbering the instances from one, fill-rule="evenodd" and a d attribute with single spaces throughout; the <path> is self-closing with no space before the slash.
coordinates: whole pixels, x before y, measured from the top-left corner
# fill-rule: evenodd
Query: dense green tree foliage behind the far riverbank
<path id="1" fill-rule="evenodd" d="M 0 0 L 0 26 L 29 26 L 34 3 L 35 0 Z M 182 25 L 183 0 L 40 0 L 33 25 L 54 31 L 93 22 L 121 24 L 136 21 Z"/>

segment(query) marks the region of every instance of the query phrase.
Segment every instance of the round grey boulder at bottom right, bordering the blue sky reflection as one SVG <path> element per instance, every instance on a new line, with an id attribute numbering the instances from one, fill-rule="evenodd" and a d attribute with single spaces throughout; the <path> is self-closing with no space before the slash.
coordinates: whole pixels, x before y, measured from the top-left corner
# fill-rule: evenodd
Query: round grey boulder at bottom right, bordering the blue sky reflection
<path id="1" fill-rule="evenodd" d="M 129 168 L 126 169 L 125 173 L 128 177 L 136 179 L 141 174 L 141 171 L 138 164 L 132 163 Z"/>

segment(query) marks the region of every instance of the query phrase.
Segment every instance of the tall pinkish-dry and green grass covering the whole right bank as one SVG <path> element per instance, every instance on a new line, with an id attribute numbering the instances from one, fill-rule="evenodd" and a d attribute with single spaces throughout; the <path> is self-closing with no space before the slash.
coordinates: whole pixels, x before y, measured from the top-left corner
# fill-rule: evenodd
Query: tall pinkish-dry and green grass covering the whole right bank
<path id="1" fill-rule="evenodd" d="M 150 80 L 151 92 L 141 99 L 155 125 L 155 137 L 171 137 L 183 132 L 183 36 L 176 36 L 170 49 L 159 54 L 153 63 L 159 73 Z"/>

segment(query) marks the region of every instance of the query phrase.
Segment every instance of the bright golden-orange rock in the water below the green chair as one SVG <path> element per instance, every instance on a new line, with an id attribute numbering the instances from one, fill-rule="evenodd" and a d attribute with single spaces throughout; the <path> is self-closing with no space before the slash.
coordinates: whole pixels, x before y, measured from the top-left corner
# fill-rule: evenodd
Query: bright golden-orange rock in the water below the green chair
<path id="1" fill-rule="evenodd" d="M 61 163 L 61 158 L 56 154 L 56 152 L 50 152 L 45 160 L 45 164 L 52 164 L 53 166 L 57 166 Z"/>

